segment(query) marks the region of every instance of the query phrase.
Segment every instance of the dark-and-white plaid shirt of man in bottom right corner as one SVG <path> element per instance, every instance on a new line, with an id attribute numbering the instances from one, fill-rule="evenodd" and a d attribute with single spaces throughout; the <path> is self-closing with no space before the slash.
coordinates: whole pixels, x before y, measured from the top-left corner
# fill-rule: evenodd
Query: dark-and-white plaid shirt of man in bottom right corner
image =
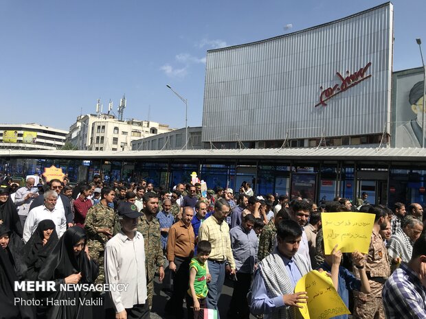
<path id="1" fill-rule="evenodd" d="M 406 263 L 386 281 L 382 296 L 386 318 L 426 318 L 425 287 Z"/>

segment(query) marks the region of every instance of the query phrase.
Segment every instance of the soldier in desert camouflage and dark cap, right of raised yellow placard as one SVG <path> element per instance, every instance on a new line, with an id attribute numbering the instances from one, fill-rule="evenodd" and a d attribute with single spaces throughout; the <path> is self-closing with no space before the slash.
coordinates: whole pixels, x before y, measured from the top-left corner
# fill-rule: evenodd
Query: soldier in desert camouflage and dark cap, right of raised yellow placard
<path id="1" fill-rule="evenodd" d="M 385 319 L 381 292 L 386 279 L 390 276 L 390 261 L 379 231 L 383 222 L 389 222 L 389 216 L 387 211 L 379 207 L 370 208 L 368 213 L 376 215 L 365 265 L 371 292 L 370 294 L 354 292 L 355 305 L 352 318 Z M 355 267 L 354 274 L 359 279 L 359 272 Z"/>

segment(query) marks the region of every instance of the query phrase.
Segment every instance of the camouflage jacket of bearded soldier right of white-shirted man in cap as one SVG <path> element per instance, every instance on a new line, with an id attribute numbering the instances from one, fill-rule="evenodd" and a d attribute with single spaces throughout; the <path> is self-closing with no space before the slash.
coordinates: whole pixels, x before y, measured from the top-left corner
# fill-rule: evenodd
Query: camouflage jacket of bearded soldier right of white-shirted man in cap
<path id="1" fill-rule="evenodd" d="M 159 221 L 157 218 L 153 217 L 153 219 L 148 222 L 146 216 L 142 215 L 137 224 L 137 231 L 144 236 L 146 278 L 148 281 L 151 281 L 155 276 L 157 268 L 164 265 Z"/>

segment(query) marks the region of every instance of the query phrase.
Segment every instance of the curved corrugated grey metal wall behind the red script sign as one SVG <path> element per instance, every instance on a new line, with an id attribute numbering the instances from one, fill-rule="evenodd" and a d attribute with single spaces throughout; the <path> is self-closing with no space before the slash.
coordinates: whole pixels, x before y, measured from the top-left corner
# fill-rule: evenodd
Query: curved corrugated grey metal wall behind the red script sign
<path id="1" fill-rule="evenodd" d="M 390 122 L 393 8 L 249 45 L 208 51 L 203 141 L 266 141 L 374 134 Z M 354 73 L 356 86 L 317 106 L 323 88 Z"/>

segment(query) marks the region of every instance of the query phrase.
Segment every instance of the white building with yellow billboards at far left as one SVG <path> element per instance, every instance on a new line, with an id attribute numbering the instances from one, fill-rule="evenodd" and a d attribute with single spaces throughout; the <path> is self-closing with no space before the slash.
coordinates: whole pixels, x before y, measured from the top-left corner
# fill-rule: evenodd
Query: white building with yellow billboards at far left
<path id="1" fill-rule="evenodd" d="M 65 145 L 67 130 L 36 123 L 0 124 L 0 148 L 8 150 L 58 150 Z"/>

